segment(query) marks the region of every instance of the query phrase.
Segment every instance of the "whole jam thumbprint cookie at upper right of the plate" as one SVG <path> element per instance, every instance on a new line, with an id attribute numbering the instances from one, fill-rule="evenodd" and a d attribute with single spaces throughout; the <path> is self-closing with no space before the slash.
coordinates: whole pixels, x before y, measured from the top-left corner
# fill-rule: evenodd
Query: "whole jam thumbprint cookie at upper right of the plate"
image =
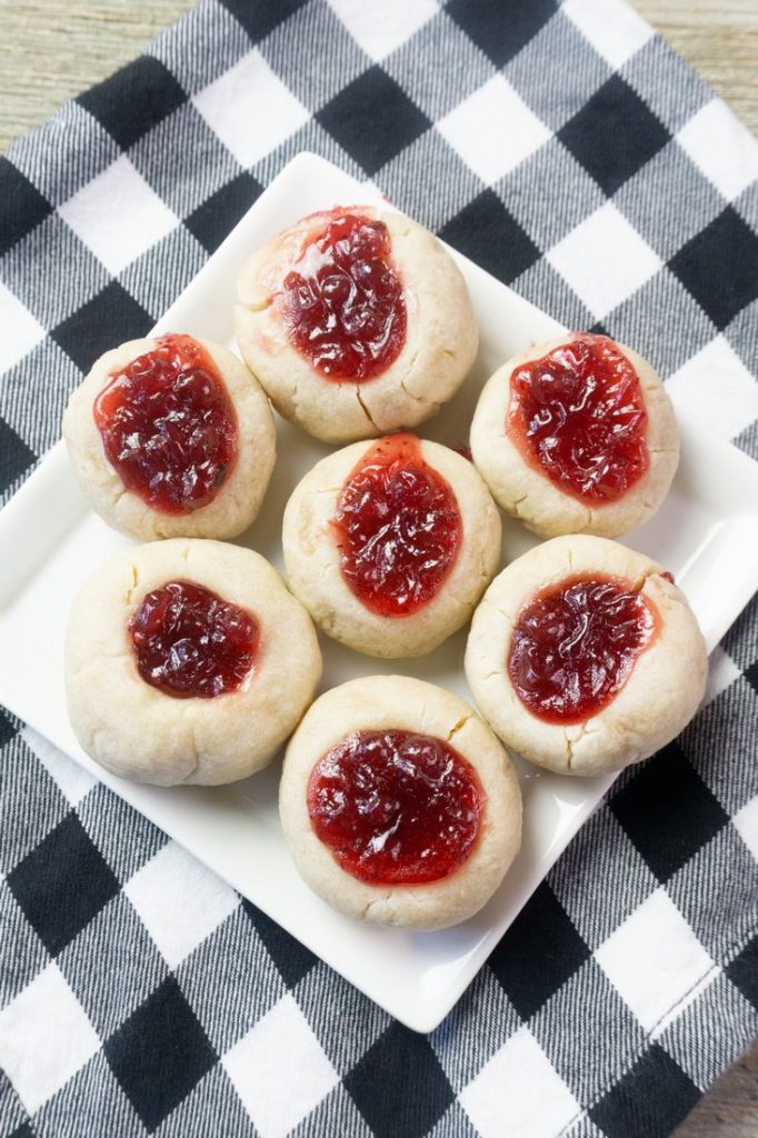
<path id="1" fill-rule="evenodd" d="M 607 336 L 567 332 L 485 385 L 471 452 L 495 501 L 544 537 L 617 537 L 648 521 L 679 460 L 650 364 Z"/>

